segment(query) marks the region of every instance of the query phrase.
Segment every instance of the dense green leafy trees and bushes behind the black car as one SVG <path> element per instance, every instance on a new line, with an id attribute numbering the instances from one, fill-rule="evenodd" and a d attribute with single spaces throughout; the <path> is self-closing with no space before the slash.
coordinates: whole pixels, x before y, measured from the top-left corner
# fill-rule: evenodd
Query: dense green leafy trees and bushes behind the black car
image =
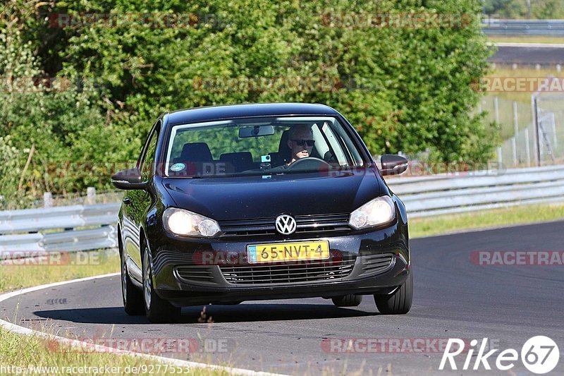
<path id="1" fill-rule="evenodd" d="M 0 135 L 10 134 L 18 150 L 37 148 L 26 190 L 106 187 L 107 178 L 96 174 L 61 177 L 49 169 L 45 174 L 41 165 L 135 160 L 159 114 L 213 104 L 329 104 L 353 123 L 373 154 L 429 150 L 445 162 L 484 161 L 494 144 L 484 119 L 472 111 L 479 93 L 471 83 L 484 75 L 491 54 L 479 30 L 477 0 L 16 0 L 11 7 L 6 19 L 35 17 L 2 24 L 6 52 L 0 51 L 0 73 L 84 83 L 62 92 L 1 94 Z M 192 13 L 199 21 L 178 28 L 61 29 L 39 16 L 88 12 Z M 331 24 L 328 13 L 455 13 L 465 15 L 465 23 L 350 28 Z M 336 85 L 201 85 L 228 79 Z M 20 164 L 27 157 L 21 154 Z M 34 174 L 44 177 L 34 181 Z"/>

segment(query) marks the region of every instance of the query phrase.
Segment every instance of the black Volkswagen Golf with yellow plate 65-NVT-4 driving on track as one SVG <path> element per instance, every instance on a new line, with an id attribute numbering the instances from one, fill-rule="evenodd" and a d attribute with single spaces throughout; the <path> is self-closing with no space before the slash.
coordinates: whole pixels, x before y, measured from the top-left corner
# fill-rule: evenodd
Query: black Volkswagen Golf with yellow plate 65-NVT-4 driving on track
<path id="1" fill-rule="evenodd" d="M 404 314 L 413 279 L 403 202 L 355 128 L 321 104 L 174 111 L 154 123 L 118 220 L 125 312 L 175 322 L 185 305 L 374 296 Z"/>

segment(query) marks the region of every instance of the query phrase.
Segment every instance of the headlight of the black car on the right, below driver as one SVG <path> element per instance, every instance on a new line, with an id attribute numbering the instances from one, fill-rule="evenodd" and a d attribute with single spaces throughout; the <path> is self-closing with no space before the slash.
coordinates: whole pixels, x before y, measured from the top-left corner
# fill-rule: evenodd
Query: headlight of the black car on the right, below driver
<path id="1" fill-rule="evenodd" d="M 396 205 L 389 196 L 381 196 L 350 213 L 348 224 L 358 230 L 386 224 L 393 219 L 396 219 Z"/>

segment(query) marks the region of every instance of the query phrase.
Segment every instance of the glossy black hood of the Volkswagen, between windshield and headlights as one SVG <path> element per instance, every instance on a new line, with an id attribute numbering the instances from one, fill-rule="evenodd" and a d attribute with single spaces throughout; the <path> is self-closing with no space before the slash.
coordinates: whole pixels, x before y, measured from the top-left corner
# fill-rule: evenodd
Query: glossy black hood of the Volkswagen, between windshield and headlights
<path id="1" fill-rule="evenodd" d="M 337 174 L 286 174 L 264 178 L 164 178 L 177 207 L 217 221 L 274 218 L 279 214 L 350 213 L 381 194 L 373 169 Z"/>

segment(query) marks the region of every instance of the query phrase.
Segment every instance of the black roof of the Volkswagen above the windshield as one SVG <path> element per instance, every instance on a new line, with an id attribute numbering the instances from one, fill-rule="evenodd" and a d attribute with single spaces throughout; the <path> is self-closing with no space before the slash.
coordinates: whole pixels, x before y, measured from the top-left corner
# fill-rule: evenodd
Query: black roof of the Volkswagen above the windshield
<path id="1" fill-rule="evenodd" d="M 255 103 L 230 104 L 226 106 L 197 107 L 182 109 L 165 114 L 168 125 L 214 121 L 221 119 L 245 118 L 252 116 L 287 115 L 338 115 L 338 112 L 325 104 L 311 103 Z"/>

